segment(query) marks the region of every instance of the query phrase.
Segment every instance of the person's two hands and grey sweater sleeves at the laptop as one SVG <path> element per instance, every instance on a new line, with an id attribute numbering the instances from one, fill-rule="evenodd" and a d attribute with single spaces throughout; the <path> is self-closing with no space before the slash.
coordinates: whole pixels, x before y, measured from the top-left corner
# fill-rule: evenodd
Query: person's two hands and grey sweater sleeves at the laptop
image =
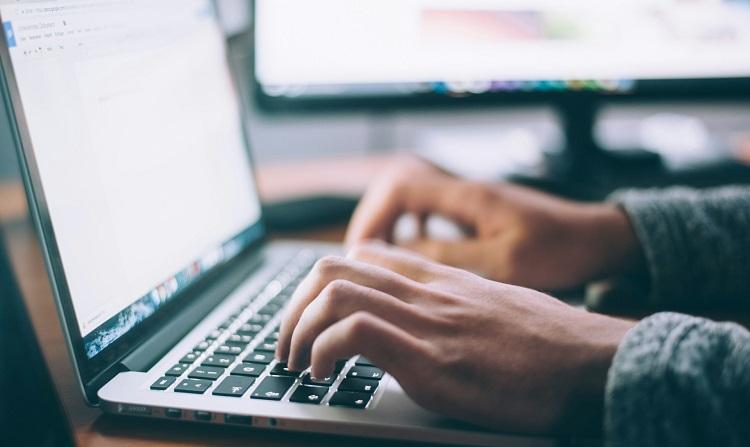
<path id="1" fill-rule="evenodd" d="M 444 215 L 468 236 L 389 245 L 405 213 Z M 630 321 L 537 291 L 645 271 L 660 309 L 747 304 L 750 188 L 583 204 L 411 160 L 371 185 L 347 243 L 287 309 L 277 357 L 290 368 L 325 377 L 362 354 L 420 405 L 496 430 L 750 445 L 744 328 L 673 312 Z"/>

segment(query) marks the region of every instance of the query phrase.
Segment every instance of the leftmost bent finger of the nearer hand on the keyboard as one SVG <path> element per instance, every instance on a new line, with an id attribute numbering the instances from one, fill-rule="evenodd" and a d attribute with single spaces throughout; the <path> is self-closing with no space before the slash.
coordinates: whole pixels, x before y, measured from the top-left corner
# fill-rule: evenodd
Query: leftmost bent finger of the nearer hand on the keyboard
<path id="1" fill-rule="evenodd" d="M 285 311 L 276 349 L 279 360 L 289 356 L 292 333 L 302 312 L 323 288 L 335 279 L 345 279 L 406 300 L 416 296 L 413 291 L 418 286 L 412 279 L 364 262 L 338 257 L 325 257 L 319 260 L 297 287 Z"/>

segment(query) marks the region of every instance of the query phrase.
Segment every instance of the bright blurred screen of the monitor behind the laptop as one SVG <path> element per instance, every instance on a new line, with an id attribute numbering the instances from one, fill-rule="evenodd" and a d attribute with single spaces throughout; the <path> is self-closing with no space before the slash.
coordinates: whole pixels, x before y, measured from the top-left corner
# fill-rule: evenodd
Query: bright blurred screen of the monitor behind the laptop
<path id="1" fill-rule="evenodd" d="M 257 0 L 271 97 L 597 91 L 750 77 L 746 0 Z"/>

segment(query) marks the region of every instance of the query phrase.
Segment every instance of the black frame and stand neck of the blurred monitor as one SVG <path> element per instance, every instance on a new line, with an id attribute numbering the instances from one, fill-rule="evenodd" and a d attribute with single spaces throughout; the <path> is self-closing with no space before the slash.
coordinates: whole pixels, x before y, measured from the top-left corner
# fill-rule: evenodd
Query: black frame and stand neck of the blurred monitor
<path id="1" fill-rule="evenodd" d="M 253 16 L 256 2 L 253 1 Z M 485 93 L 405 93 L 390 95 L 342 96 L 272 96 L 267 94 L 255 76 L 256 52 L 254 42 L 256 27 L 249 33 L 253 40 L 249 72 L 253 85 L 253 98 L 258 109 L 267 114 L 310 115 L 330 112 L 426 111 L 436 108 L 478 109 L 517 106 L 551 106 L 557 112 L 565 146 L 551 163 L 553 175 L 563 177 L 588 176 L 601 170 L 601 164 L 610 164 L 608 152 L 599 146 L 594 137 L 597 112 L 605 104 L 633 102 L 750 102 L 750 74 L 733 78 L 685 78 L 635 80 L 632 90 L 594 91 L 502 91 Z M 445 82 L 446 80 L 436 80 Z M 652 159 L 653 160 L 653 159 Z M 615 164 L 619 165 L 615 160 Z M 632 166 L 636 169 L 639 166 Z M 562 172 L 564 171 L 564 172 Z M 610 169 L 611 171 L 611 169 Z"/>

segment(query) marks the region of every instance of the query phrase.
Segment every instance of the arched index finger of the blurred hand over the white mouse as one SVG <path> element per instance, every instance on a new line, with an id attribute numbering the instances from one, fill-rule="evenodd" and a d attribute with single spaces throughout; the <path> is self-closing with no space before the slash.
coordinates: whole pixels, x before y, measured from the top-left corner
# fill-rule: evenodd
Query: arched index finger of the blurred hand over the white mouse
<path id="1" fill-rule="evenodd" d="M 442 214 L 459 223 L 471 226 L 481 210 L 479 197 L 468 194 L 470 184 L 442 173 L 416 178 L 398 176 L 387 178 L 365 193 L 352 216 L 346 242 L 391 237 L 394 223 L 406 212 Z"/>

